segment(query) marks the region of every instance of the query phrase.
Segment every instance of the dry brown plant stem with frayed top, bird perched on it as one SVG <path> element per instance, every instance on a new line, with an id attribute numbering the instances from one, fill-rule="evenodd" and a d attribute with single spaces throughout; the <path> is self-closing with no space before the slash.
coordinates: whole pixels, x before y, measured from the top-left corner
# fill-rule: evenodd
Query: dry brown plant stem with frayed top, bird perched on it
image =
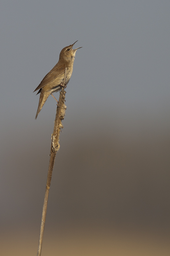
<path id="1" fill-rule="evenodd" d="M 65 84 L 66 73 L 67 73 L 67 68 L 65 68 L 63 84 Z M 60 92 L 59 102 L 57 104 L 58 106 L 57 106 L 55 122 L 54 122 L 54 131 L 51 136 L 52 142 L 51 142 L 51 150 L 50 150 L 50 160 L 49 160 L 49 167 L 48 167 L 46 192 L 45 192 L 45 198 L 44 198 L 44 204 L 43 204 L 43 210 L 42 210 L 41 229 L 40 229 L 40 238 L 39 238 L 37 256 L 41 256 L 42 239 L 44 234 L 44 227 L 45 227 L 45 220 L 46 220 L 46 213 L 47 213 L 49 188 L 50 188 L 51 177 L 52 177 L 52 172 L 53 172 L 54 163 L 55 163 L 55 155 L 60 148 L 59 137 L 60 137 L 60 131 L 63 128 L 62 120 L 64 119 L 65 110 L 66 110 L 66 106 L 64 104 L 65 93 L 66 92 L 64 91 L 64 88 L 62 88 Z"/>

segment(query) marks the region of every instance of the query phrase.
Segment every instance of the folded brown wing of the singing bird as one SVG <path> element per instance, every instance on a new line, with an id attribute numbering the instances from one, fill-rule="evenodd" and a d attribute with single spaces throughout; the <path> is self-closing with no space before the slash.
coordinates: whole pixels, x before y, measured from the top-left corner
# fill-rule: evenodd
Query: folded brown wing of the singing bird
<path id="1" fill-rule="evenodd" d="M 59 65 L 58 63 L 55 65 L 54 68 L 49 71 L 49 73 L 42 79 L 41 83 L 38 85 L 38 87 L 35 89 L 35 91 L 41 89 L 45 85 L 51 83 L 53 80 L 55 80 L 58 76 L 63 75 L 65 72 L 65 66 Z M 33 92 L 35 92 L 33 91 Z"/>

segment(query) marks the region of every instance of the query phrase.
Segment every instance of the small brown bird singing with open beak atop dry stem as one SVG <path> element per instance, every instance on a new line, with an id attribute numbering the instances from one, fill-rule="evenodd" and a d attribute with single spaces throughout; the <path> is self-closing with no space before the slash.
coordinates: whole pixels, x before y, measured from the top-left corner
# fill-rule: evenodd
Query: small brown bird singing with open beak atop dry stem
<path id="1" fill-rule="evenodd" d="M 73 63 L 74 63 L 76 51 L 77 49 L 82 48 L 82 47 L 79 47 L 76 49 L 72 49 L 74 44 L 70 44 L 70 46 L 66 46 L 63 48 L 63 50 L 60 52 L 58 63 L 43 78 L 39 86 L 35 89 L 35 91 L 39 90 L 38 93 L 40 93 L 40 100 L 39 100 L 39 105 L 38 105 L 35 119 L 37 119 L 37 116 L 40 113 L 40 110 L 43 107 L 44 103 L 46 102 L 48 96 L 50 94 L 52 95 L 53 92 L 61 91 L 63 87 L 64 88 L 67 87 L 67 84 L 70 81 L 70 77 L 73 72 Z M 65 68 L 67 68 L 67 73 L 66 73 L 65 84 L 63 84 Z"/>

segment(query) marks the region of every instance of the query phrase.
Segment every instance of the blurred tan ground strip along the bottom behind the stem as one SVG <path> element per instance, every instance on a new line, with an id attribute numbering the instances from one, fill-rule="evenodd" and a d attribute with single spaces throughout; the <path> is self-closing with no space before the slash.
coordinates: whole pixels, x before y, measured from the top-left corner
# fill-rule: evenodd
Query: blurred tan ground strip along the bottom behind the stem
<path id="1" fill-rule="evenodd" d="M 1 255 L 36 255 L 37 230 L 18 229 L 1 236 Z M 148 231 L 77 227 L 45 233 L 42 256 L 169 256 L 169 237 Z"/>

